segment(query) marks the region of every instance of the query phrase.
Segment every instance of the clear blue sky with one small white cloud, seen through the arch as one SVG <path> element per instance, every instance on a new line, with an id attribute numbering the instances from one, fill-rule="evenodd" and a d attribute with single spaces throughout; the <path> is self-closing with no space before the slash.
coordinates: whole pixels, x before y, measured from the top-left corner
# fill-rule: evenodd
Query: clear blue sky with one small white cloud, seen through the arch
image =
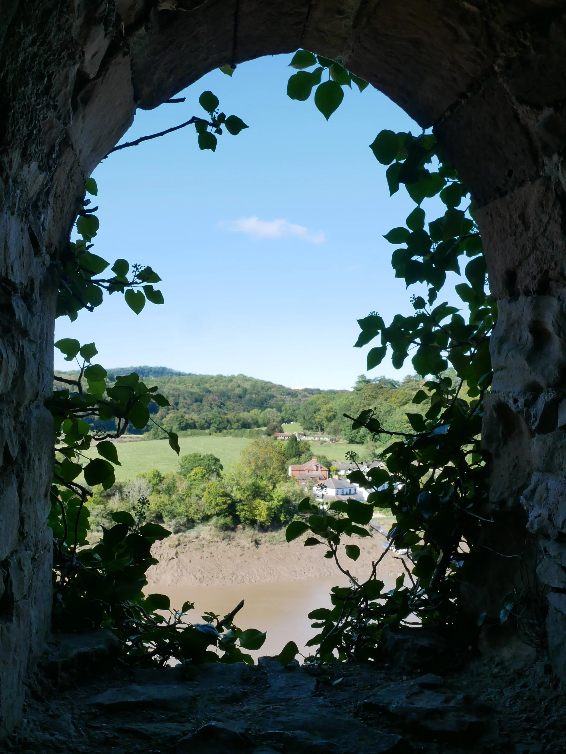
<path id="1" fill-rule="evenodd" d="M 120 294 L 56 338 L 96 342 L 107 367 L 149 364 L 200 374 L 243 373 L 291 387 L 350 388 L 366 371 L 356 319 L 412 311 L 382 238 L 415 206 L 392 198 L 368 145 L 383 128 L 420 128 L 377 90 L 347 90 L 326 122 L 313 97 L 286 96 L 291 56 L 214 71 L 182 104 L 139 111 L 124 140 L 204 115 L 212 90 L 249 128 L 200 152 L 194 127 L 121 152 L 93 173 L 100 230 L 93 252 L 163 278 L 165 305 L 133 314 Z M 59 351 L 57 369 L 69 368 Z M 390 360 L 369 376 L 405 375 Z"/>

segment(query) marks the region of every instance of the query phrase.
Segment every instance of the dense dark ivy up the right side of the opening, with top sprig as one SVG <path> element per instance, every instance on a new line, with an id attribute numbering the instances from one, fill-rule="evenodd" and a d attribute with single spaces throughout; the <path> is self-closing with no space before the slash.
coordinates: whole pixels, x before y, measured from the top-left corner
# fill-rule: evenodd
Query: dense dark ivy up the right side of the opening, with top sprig
<path id="1" fill-rule="evenodd" d="M 319 84 L 314 97 L 328 119 L 341 103 L 341 87 L 356 81 L 342 63 L 298 51 L 291 66 L 318 67 L 289 78 L 289 97 L 307 100 L 314 84 L 328 72 L 329 80 Z M 326 90 L 320 93 L 324 86 Z M 415 202 L 405 225 L 384 236 L 397 247 L 391 259 L 395 276 L 405 280 L 407 287 L 420 284 L 420 291 L 424 284 L 427 288 L 412 296 L 415 312 L 410 316 L 396 314 L 386 324 L 372 311 L 358 320 L 361 333 L 355 345 L 362 348 L 378 341 L 367 354 L 368 369 L 378 366 L 387 352 L 396 369 L 411 357 L 415 372 L 424 379 L 413 403 L 424 404 L 427 411 L 407 414 L 412 432 L 384 430 L 375 410 L 347 416 L 353 428 L 364 427 L 373 437 L 391 439 L 381 454 L 380 467 L 364 474 L 358 465 L 348 477 L 370 491 L 367 503 L 331 501 L 325 509 L 304 500 L 298 508 L 301 520 L 286 529 L 288 541 L 307 533 L 306 547 L 322 544 L 324 556 L 334 559 L 350 579 L 349 587 L 332 590 L 332 608 L 309 615 L 315 621 L 313 627 L 319 629 L 308 642 L 317 647 L 310 659 L 318 662 L 378 657 L 384 629 L 403 624 L 409 615 L 425 625 L 458 626 L 469 637 L 473 627 L 465 625 L 460 584 L 466 578 L 479 526 L 485 521 L 487 486 L 480 433 L 483 400 L 491 384 L 489 339 L 497 306 L 485 292 L 486 266 L 474 219 L 476 207 L 433 133 L 413 136 L 382 130 L 370 149 L 387 166 L 390 194 L 403 187 Z M 430 219 L 423 205 L 436 197 L 445 209 Z M 461 308 L 437 302 L 450 271 L 458 275 L 464 271 L 467 279 L 455 287 Z M 448 368 L 455 377 L 447 375 Z M 350 460 L 355 460 L 355 454 Z M 372 520 L 374 506 L 390 508 L 395 516 L 387 550 L 406 553 L 401 558 L 405 572 L 393 590 L 384 590 L 377 577 L 379 561 L 370 578 L 361 582 L 343 562 L 344 557 L 350 561 L 359 557 L 359 546 L 352 538 L 370 536 L 364 525 Z M 295 649 L 292 642 L 285 648 L 283 664 L 295 656 Z"/>

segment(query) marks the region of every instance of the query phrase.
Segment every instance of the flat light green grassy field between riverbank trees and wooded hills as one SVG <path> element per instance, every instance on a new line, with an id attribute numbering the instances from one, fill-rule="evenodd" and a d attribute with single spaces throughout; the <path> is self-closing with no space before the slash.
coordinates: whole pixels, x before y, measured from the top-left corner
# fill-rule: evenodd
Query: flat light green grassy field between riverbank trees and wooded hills
<path id="1" fill-rule="evenodd" d="M 167 440 L 133 440 L 129 443 L 118 443 L 118 458 L 121 466 L 116 467 L 116 481 L 124 482 L 132 479 L 136 474 L 142 474 L 151 469 L 159 469 L 162 474 L 167 474 L 168 471 L 178 471 L 180 456 L 188 453 L 213 453 L 220 458 L 226 471 L 231 464 L 240 461 L 240 453 L 252 440 L 252 437 L 210 437 L 207 435 L 179 437 L 181 447 L 179 456 L 170 449 Z M 345 461 L 346 452 L 359 451 L 360 446 L 349 443 L 325 443 L 324 445 L 311 443 L 311 448 L 313 455 L 317 455 L 318 452 L 333 461 Z M 89 455 L 94 458 L 97 454 L 95 450 L 92 450 Z"/>

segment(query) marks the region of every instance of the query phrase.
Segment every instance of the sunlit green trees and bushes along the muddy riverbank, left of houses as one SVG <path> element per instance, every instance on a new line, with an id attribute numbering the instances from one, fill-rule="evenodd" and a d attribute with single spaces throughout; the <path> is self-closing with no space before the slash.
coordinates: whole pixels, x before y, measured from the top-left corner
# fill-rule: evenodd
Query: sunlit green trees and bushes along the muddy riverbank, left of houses
<path id="1" fill-rule="evenodd" d="M 260 437 L 243 450 L 239 464 L 224 470 L 214 455 L 191 453 L 179 461 L 176 473 L 157 469 L 105 492 L 93 490 L 89 510 L 96 526 L 112 526 L 116 510 L 136 510 L 147 501 L 145 515 L 180 532 L 198 523 L 217 529 L 243 526 L 280 527 L 292 520 L 297 504 L 310 490 L 289 477 L 290 462 L 312 457 L 308 443 L 289 449 L 270 437 Z M 289 452 L 292 450 L 290 457 Z"/>

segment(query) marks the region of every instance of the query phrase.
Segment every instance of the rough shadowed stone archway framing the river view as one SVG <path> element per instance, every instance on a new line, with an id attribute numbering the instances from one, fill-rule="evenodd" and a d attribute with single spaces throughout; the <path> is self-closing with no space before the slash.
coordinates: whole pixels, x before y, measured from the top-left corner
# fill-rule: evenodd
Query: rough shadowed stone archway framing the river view
<path id="1" fill-rule="evenodd" d="M 50 613 L 55 290 L 84 181 L 130 125 L 225 63 L 307 48 L 433 126 L 472 189 L 500 300 L 485 418 L 493 505 L 549 543 L 549 620 L 566 674 L 564 0 L 0 0 L 0 714 Z M 520 510 L 523 510 L 520 508 Z M 553 553 L 553 554 L 552 554 Z M 550 555 L 552 554 L 552 558 Z M 551 574 L 552 572 L 552 574 Z M 564 583 L 561 581 L 564 578 Z"/>

